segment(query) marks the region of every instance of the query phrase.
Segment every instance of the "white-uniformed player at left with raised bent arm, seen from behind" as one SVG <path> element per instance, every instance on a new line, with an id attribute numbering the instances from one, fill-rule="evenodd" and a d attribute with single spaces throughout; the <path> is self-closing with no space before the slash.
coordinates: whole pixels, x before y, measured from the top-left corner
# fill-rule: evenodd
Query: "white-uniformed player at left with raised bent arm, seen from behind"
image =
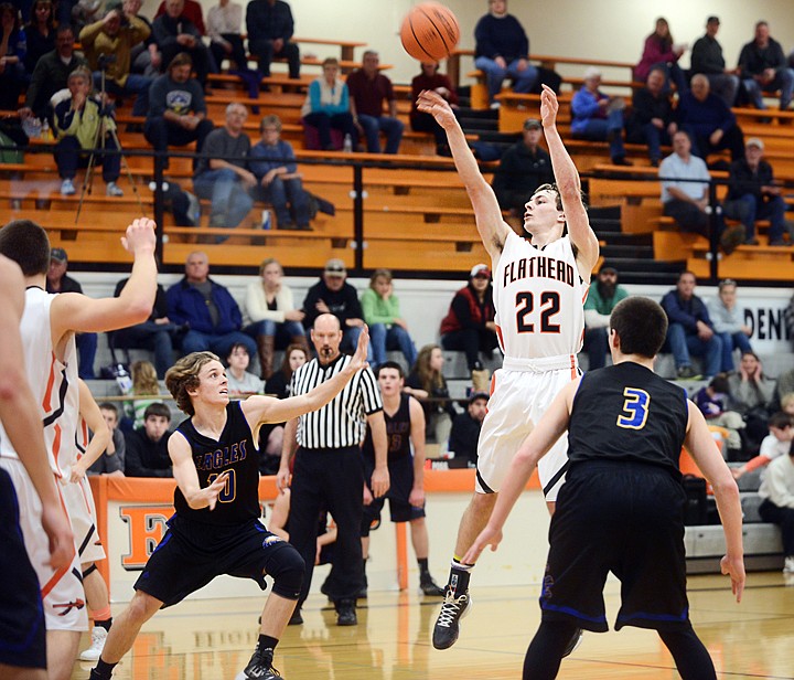
<path id="1" fill-rule="evenodd" d="M 50 295 L 45 293 L 50 266 L 46 232 L 29 220 L 10 222 L 0 230 L 0 254 L 21 267 L 28 287 L 20 323 L 25 368 L 44 426 L 50 467 L 58 488 L 68 482 L 71 466 L 76 459 L 79 396 L 75 332 L 100 332 L 140 323 L 149 317 L 154 305 L 154 222 L 136 220 L 127 227 L 121 243 L 135 262 L 130 285 L 125 286 L 120 297 L 93 299 L 77 293 Z M 49 678 L 68 680 L 81 633 L 88 629 L 77 548 L 74 548 L 68 565 L 58 570 L 50 566 L 41 503 L 2 431 L 0 465 L 13 480 L 25 548 L 42 588 Z"/>

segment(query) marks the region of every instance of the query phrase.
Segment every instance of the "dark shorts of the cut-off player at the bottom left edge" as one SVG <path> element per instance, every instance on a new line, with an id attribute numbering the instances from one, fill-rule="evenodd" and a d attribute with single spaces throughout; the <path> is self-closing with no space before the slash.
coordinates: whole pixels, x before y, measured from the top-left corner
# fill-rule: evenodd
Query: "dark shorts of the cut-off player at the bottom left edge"
<path id="1" fill-rule="evenodd" d="M 19 525 L 17 492 L 0 468 L 0 663 L 46 669 L 41 588 Z"/>

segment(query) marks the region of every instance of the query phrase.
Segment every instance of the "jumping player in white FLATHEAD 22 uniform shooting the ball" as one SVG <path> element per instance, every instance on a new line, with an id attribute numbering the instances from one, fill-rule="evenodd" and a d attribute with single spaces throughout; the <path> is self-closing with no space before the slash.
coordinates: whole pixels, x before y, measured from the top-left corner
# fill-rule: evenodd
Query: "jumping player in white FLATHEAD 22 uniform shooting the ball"
<path id="1" fill-rule="evenodd" d="M 583 304 L 599 245 L 582 202 L 579 173 L 557 130 L 559 105 L 554 91 L 544 86 L 540 117 L 556 184 L 539 187 L 526 203 L 528 240 L 516 235 L 502 217 L 449 104 L 434 92 L 422 92 L 417 106 L 444 128 L 474 208 L 478 231 L 491 255 L 497 333 L 505 354 L 491 383 L 480 434 L 476 492 L 461 519 L 444 603 L 433 628 L 433 647 L 447 649 L 458 639 L 460 618 L 470 606 L 474 565 L 462 557 L 487 523 L 518 446 L 557 392 L 578 375 Z M 550 510 L 565 475 L 565 442 L 558 442 L 539 470 Z"/>

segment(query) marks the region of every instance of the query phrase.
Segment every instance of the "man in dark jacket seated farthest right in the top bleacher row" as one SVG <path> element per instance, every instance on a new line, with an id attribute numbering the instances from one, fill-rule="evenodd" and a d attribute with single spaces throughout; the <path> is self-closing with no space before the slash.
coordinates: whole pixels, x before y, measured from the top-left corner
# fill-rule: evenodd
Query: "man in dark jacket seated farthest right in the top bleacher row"
<path id="1" fill-rule="evenodd" d="M 774 94 L 777 91 L 781 110 L 788 108 L 794 92 L 794 70 L 788 67 L 781 44 L 770 38 L 769 23 L 765 21 L 755 24 L 754 39 L 742 47 L 739 72 L 755 108 L 766 108 L 764 93 Z"/>

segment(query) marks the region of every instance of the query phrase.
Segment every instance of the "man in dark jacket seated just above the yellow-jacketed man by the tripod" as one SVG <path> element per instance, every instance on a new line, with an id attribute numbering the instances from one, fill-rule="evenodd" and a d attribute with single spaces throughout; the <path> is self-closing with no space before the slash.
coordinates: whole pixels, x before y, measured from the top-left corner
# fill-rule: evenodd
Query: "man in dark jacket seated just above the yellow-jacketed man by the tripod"
<path id="1" fill-rule="evenodd" d="M 88 63 L 74 51 L 74 31 L 71 26 L 58 26 L 55 32 L 55 50 L 42 56 L 33 70 L 25 104 L 20 109 L 21 118 L 35 116 L 44 119 L 52 116 L 50 98 L 68 86 L 68 76 L 78 66 Z"/>

